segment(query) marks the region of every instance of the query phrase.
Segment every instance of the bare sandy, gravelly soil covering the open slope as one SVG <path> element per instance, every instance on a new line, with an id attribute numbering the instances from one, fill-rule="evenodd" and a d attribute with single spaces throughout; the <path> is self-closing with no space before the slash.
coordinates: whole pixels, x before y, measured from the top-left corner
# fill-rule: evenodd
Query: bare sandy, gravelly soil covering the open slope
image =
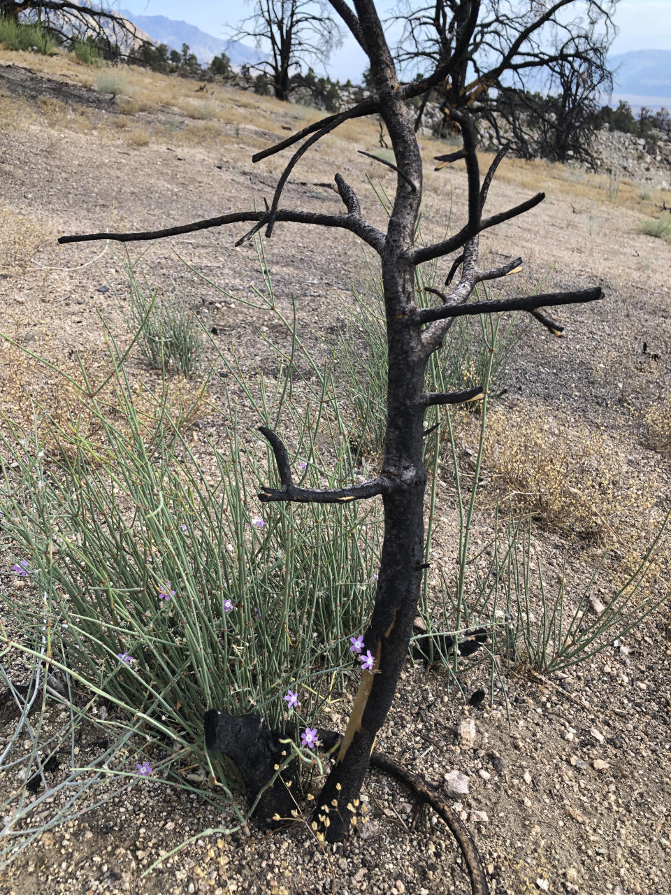
<path id="1" fill-rule="evenodd" d="M 90 90 L 91 82 L 81 66 L 0 53 L 0 210 L 9 222 L 0 234 L 2 328 L 24 345 L 43 348 L 48 337 L 49 350 L 63 355 L 69 349 L 98 350 L 97 311 L 123 333 L 113 296 L 115 290 L 123 293 L 124 284 L 112 249 L 102 253 L 102 243 L 57 247 L 57 235 L 144 230 L 258 206 L 271 195 L 282 159 L 251 166 L 251 153 L 282 139 L 287 128 L 313 120 L 304 110 L 212 89 L 208 101 L 217 115 L 194 119 L 183 108 L 191 99 L 200 101 L 198 94 L 189 97 L 198 85 L 180 86 L 180 107 L 174 96 L 161 96 L 168 88 L 156 78 L 156 96 L 122 115 L 123 102 Z M 138 88 L 133 97 L 139 96 Z M 319 144 L 294 172 L 285 205 L 339 210 L 338 197 L 323 184 L 340 171 L 360 193 L 365 213 L 381 225 L 383 212 L 365 175 L 379 175 L 389 190 L 394 175 L 356 153 L 375 148 L 375 133 L 372 125 L 350 126 Z M 430 141 L 422 147 L 425 239 L 442 235 L 448 217 L 453 229 L 463 217 L 463 170 L 431 170 L 441 149 Z M 606 188 L 603 179 L 560 166 L 515 160 L 502 166 L 490 193 L 492 213 L 539 190 L 548 198 L 483 237 L 483 254 L 495 260 L 522 255 L 522 282 L 529 286 L 548 277 L 557 288 L 600 285 L 606 294 L 603 303 L 562 312 L 564 339 L 539 328 L 528 331 L 511 361 L 502 407 L 514 419 L 516 407 L 530 401 L 539 418 L 553 418 L 565 431 L 582 430 L 588 437 L 606 431 L 624 458 L 623 479 L 636 488 L 652 483 L 653 504 L 661 512 L 669 500 L 669 461 L 641 442 L 641 412 L 655 402 L 663 405 L 671 388 L 671 245 L 639 231 L 654 208 L 635 199 L 633 184 L 624 183 L 618 204 L 607 200 Z M 183 284 L 208 327 L 217 328 L 223 348 L 241 348 L 251 370 L 264 362 L 259 336 L 272 332 L 268 315 L 241 310 L 184 272 L 175 257 L 226 290 L 249 294 L 259 279 L 258 262 L 249 246 L 232 247 L 242 232 L 244 226 L 205 230 L 156 243 L 145 266 L 157 285 Z M 278 301 L 288 308 L 295 294 L 302 327 L 328 340 L 352 304 L 352 281 L 364 275 L 354 237 L 277 226 L 267 260 Z M 105 285 L 111 292 L 99 291 Z M 310 336 L 310 344 L 324 350 L 317 336 Z M 206 425 L 214 419 L 213 412 Z M 454 513 L 449 485 L 441 489 L 436 551 L 447 561 L 454 556 Z M 633 500 L 627 495 L 624 488 L 624 516 L 626 500 Z M 486 529 L 490 516 L 483 519 Z M 629 520 L 632 530 L 639 523 Z M 550 556 L 568 550 L 576 582 L 602 554 L 599 544 L 540 528 L 534 542 Z M 658 574 L 656 586 L 667 588 L 668 564 Z M 4 577 L 2 586 L 11 586 L 11 576 Z M 406 670 L 378 748 L 437 784 L 453 769 L 468 776 L 469 795 L 454 801 L 493 892 L 671 891 L 665 820 L 671 784 L 669 630 L 667 606 L 566 677 L 548 683 L 509 669 L 507 709 L 500 691 L 493 703 L 487 699 L 471 708 L 445 671 Z M 488 686 L 488 672 L 474 666 L 460 684 L 469 695 Z M 465 718 L 475 721 L 472 744 L 458 732 Z M 6 789 L 11 781 L 0 785 Z M 217 828 L 219 820 L 208 805 L 185 794 L 135 788 L 132 797 L 43 835 L 0 875 L 0 892 L 469 891 L 445 827 L 426 809 L 418 812 L 402 787 L 373 772 L 364 800 L 369 824 L 326 853 L 314 848 L 301 824 L 272 836 L 254 829 L 249 836 L 215 833 L 166 857 L 143 877 L 157 857 L 199 831 Z"/>

